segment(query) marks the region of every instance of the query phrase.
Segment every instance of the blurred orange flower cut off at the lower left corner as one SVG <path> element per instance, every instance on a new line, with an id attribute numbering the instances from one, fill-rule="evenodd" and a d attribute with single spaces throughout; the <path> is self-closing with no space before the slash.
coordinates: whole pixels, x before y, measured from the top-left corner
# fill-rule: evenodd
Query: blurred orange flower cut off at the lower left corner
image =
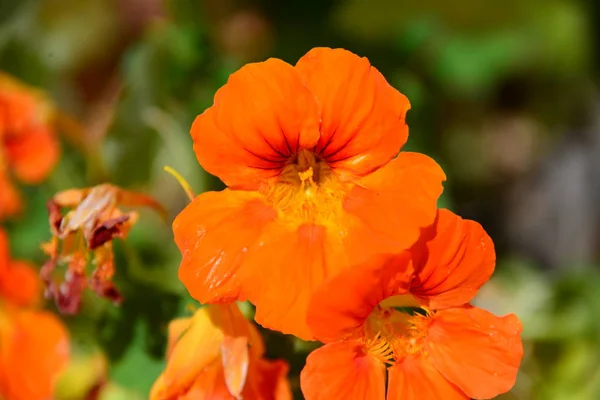
<path id="1" fill-rule="evenodd" d="M 68 333 L 35 308 L 41 286 L 27 263 L 8 254 L 0 230 L 0 399 L 47 400 L 69 359 Z"/>

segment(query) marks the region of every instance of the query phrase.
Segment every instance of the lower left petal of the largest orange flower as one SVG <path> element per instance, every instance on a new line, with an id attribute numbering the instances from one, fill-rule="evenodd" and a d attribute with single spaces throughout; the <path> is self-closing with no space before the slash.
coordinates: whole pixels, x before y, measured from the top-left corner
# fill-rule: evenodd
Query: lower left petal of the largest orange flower
<path id="1" fill-rule="evenodd" d="M 275 211 L 254 192 L 207 192 L 189 204 L 173 232 L 183 257 L 179 279 L 192 297 L 201 303 L 238 300 L 237 270 L 274 219 Z"/>

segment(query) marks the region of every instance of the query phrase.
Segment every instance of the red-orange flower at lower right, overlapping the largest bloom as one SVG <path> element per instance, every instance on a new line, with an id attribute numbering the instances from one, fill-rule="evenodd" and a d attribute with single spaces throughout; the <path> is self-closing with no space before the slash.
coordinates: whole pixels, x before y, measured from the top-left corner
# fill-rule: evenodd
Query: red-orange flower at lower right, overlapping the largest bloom
<path id="1" fill-rule="evenodd" d="M 518 318 L 465 304 L 494 261 L 479 224 L 440 210 L 410 252 L 325 283 L 308 312 L 326 345 L 301 373 L 305 398 L 468 400 L 510 390 L 523 356 Z"/>

